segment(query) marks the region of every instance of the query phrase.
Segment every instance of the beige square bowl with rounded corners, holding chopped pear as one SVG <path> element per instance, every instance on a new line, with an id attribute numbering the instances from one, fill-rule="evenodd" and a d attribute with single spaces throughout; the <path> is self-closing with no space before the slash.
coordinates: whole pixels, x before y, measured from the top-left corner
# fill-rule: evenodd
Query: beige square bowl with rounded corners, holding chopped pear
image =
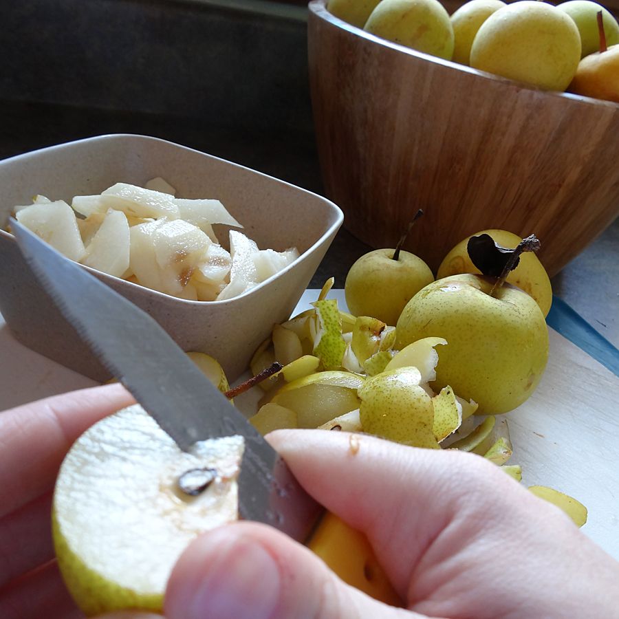
<path id="1" fill-rule="evenodd" d="M 186 351 L 217 358 L 229 380 L 248 367 L 274 323 L 290 316 L 343 221 L 329 200 L 243 166 L 143 135 L 101 135 L 0 161 L 0 228 L 33 195 L 69 202 L 116 182 L 163 177 L 177 197 L 216 198 L 259 248 L 296 246 L 300 257 L 246 294 L 228 301 L 184 301 L 96 272 L 100 280 L 155 318 Z M 215 226 L 228 245 L 226 226 Z M 87 268 L 87 267 L 84 267 Z M 81 343 L 34 280 L 14 237 L 0 230 L 0 312 L 24 345 L 95 380 L 109 373 Z M 122 316 L 116 316 L 119 328 Z"/>

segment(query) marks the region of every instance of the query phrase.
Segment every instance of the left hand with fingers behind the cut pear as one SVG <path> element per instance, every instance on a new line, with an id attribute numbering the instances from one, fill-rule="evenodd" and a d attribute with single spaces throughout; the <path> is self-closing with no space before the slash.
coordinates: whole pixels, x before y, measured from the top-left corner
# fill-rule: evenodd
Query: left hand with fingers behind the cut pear
<path id="1" fill-rule="evenodd" d="M 50 514 L 58 468 L 74 440 L 133 403 L 120 384 L 0 413 L 0 617 L 81 617 L 54 559 Z"/>

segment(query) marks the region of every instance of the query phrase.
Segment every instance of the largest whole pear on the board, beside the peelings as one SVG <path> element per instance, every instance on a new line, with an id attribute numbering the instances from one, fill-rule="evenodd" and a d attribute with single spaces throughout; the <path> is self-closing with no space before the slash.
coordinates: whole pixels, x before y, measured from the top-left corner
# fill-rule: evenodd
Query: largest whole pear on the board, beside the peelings
<path id="1" fill-rule="evenodd" d="M 395 327 L 395 347 L 421 338 L 447 340 L 439 351 L 434 391 L 450 385 L 481 414 L 507 413 L 533 393 L 548 358 L 548 329 L 539 305 L 508 283 L 490 296 L 495 278 L 461 274 L 417 292 Z"/>

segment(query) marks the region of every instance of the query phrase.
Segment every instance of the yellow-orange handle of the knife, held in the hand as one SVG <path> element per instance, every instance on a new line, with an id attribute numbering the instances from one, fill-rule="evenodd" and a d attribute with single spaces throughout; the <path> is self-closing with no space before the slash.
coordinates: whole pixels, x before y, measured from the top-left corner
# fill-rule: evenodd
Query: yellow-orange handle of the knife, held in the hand
<path id="1" fill-rule="evenodd" d="M 326 512 L 307 543 L 345 583 L 391 606 L 402 607 L 364 534 Z"/>

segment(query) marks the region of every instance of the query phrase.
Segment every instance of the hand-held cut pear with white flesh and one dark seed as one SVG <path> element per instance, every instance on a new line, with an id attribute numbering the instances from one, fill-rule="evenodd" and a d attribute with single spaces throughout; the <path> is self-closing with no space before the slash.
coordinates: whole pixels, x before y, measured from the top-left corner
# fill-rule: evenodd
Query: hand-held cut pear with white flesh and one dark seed
<path id="1" fill-rule="evenodd" d="M 243 448 L 243 437 L 232 436 L 184 452 L 139 405 L 78 438 L 56 481 L 52 532 L 65 583 L 84 613 L 162 610 L 187 545 L 237 520 Z M 210 475 L 196 496 L 179 486 L 188 471 Z"/>

